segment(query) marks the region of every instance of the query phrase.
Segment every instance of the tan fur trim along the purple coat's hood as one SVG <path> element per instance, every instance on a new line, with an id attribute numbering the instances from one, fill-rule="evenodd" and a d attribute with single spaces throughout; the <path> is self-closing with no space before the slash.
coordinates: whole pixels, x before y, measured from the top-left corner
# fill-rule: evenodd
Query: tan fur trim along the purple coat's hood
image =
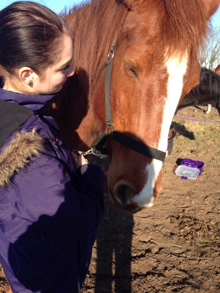
<path id="1" fill-rule="evenodd" d="M 31 157 L 43 152 L 43 140 L 37 134 L 36 127 L 31 132 L 14 133 L 9 144 L 0 153 L 0 187 L 8 185 L 14 173 L 23 169 Z"/>

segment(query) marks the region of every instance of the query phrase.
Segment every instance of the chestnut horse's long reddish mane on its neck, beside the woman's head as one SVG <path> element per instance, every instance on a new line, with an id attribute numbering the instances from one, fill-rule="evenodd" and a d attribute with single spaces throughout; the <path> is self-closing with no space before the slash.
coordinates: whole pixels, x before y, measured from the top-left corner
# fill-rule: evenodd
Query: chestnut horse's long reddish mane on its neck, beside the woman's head
<path id="1" fill-rule="evenodd" d="M 73 67 L 89 101 L 93 85 L 112 43 L 119 37 L 126 14 L 126 6 L 115 0 L 82 2 L 61 14 L 72 31 Z"/>

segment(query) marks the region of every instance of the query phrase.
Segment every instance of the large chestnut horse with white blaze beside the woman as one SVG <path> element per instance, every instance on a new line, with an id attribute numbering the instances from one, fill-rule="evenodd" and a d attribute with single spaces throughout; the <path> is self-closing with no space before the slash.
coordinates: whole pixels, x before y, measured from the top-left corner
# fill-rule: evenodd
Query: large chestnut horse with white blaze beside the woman
<path id="1" fill-rule="evenodd" d="M 105 125 L 105 71 L 112 44 L 111 107 L 116 130 L 163 152 L 179 101 L 199 83 L 199 47 L 220 0 L 92 0 L 65 13 L 75 74 L 51 104 L 68 146 L 88 150 Z M 162 161 L 107 142 L 108 193 L 130 213 L 161 191 Z"/>

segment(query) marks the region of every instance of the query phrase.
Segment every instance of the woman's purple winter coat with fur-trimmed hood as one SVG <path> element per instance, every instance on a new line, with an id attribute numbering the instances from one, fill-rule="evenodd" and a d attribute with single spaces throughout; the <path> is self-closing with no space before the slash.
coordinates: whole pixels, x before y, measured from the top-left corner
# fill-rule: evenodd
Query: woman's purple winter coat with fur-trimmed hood
<path id="1" fill-rule="evenodd" d="M 80 291 L 104 214 L 101 168 L 74 171 L 55 121 L 39 114 L 55 96 L 0 89 L 0 101 L 35 111 L 0 149 L 0 262 L 14 293 Z"/>

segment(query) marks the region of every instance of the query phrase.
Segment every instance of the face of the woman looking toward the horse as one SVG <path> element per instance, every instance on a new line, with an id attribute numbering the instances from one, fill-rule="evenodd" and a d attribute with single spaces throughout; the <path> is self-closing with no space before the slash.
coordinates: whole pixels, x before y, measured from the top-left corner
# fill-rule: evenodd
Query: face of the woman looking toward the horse
<path id="1" fill-rule="evenodd" d="M 35 94 L 48 95 L 59 92 L 66 79 L 74 74 L 71 65 L 73 44 L 70 36 L 64 36 L 61 46 L 63 50 L 60 52 L 59 62 L 46 69 L 43 81 L 41 81 L 39 77 L 33 80 L 32 90 Z"/>

